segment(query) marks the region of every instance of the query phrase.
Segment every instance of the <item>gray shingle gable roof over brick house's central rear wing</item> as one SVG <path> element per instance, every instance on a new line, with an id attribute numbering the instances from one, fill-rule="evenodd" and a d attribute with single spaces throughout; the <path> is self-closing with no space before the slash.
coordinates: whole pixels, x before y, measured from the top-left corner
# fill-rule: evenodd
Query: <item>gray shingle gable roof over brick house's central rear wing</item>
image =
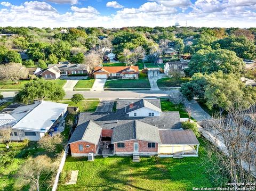
<path id="1" fill-rule="evenodd" d="M 157 127 L 138 120 L 133 120 L 114 128 L 112 143 L 131 139 L 146 140 L 155 143 L 161 142 Z"/>

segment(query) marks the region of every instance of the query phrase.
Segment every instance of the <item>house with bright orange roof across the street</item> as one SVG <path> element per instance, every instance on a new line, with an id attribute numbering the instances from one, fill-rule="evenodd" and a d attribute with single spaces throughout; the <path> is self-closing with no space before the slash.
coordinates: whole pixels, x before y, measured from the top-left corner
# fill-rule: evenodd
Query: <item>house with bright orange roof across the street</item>
<path id="1" fill-rule="evenodd" d="M 130 67 L 95 67 L 93 72 L 94 78 L 122 78 L 138 79 L 139 67 L 131 65 Z"/>

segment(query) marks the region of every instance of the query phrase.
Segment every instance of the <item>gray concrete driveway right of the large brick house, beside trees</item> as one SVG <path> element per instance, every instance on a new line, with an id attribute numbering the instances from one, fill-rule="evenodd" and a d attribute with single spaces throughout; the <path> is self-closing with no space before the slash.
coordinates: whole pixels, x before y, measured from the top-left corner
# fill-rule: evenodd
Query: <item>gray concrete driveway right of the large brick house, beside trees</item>
<path id="1" fill-rule="evenodd" d="M 187 108 L 190 108 L 191 117 L 193 117 L 196 121 L 212 119 L 212 117 L 208 113 L 206 113 L 195 100 L 186 102 L 185 106 Z"/>

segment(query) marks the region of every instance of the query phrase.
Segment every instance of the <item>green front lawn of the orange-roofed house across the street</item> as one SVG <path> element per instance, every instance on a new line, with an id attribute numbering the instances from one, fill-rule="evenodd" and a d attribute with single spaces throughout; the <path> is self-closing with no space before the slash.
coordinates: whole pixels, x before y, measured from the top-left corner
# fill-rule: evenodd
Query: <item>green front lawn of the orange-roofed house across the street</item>
<path id="1" fill-rule="evenodd" d="M 150 88 L 148 78 L 107 80 L 104 88 Z"/>

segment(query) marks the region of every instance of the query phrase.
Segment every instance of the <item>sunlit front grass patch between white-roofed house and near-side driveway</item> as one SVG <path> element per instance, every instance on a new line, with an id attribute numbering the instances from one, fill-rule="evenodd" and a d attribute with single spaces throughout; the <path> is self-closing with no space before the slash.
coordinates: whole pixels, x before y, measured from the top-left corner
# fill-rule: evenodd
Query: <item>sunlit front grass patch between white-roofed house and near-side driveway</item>
<path id="1" fill-rule="evenodd" d="M 65 103 L 68 104 L 68 106 L 71 107 L 79 107 L 80 112 L 94 112 L 97 109 L 97 106 L 99 105 L 100 101 L 82 101 L 80 103 L 73 103 L 71 101 L 65 101 L 65 102 L 59 102 L 59 103 Z"/>

